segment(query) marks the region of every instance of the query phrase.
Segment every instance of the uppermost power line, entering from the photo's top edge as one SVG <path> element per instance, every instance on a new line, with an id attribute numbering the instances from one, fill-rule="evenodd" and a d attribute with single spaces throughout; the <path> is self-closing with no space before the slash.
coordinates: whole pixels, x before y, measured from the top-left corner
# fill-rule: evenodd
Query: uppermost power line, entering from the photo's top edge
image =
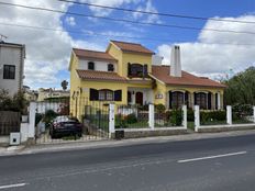
<path id="1" fill-rule="evenodd" d="M 203 20 L 203 21 L 211 20 L 211 21 L 220 21 L 220 22 L 255 24 L 255 22 L 253 22 L 253 21 L 241 21 L 241 20 L 203 18 L 203 16 L 193 16 L 193 15 L 184 15 L 184 14 L 160 13 L 160 12 L 142 11 L 142 10 L 134 10 L 134 9 L 126 9 L 126 8 L 117 8 L 117 7 L 110 7 L 110 5 L 93 4 L 93 3 L 71 1 L 71 0 L 58 0 L 58 1 L 69 2 L 69 3 L 75 3 L 75 4 L 84 4 L 84 5 L 88 5 L 88 7 L 95 7 L 95 8 L 103 8 L 103 9 L 110 9 L 110 10 L 135 12 L 135 13 L 142 13 L 142 14 L 153 14 L 153 15 L 169 16 L 169 18 L 181 18 L 181 19 Z"/>

